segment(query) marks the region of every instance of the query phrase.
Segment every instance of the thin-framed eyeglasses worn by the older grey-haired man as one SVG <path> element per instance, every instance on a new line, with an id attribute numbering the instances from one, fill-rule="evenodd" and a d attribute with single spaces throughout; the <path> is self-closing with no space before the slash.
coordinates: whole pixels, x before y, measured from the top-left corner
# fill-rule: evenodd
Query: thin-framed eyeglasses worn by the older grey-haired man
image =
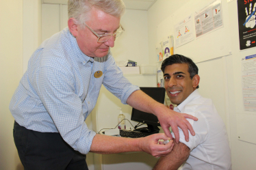
<path id="1" fill-rule="evenodd" d="M 84 23 L 84 25 L 86 25 L 86 23 Z M 107 40 L 110 40 L 111 36 L 113 36 L 114 40 L 116 40 L 116 38 L 120 37 L 122 35 L 122 33 L 125 31 L 123 26 L 120 25 L 120 27 L 119 27 L 119 29 L 121 29 L 120 31 L 116 31 L 115 33 L 107 33 L 107 34 L 99 35 L 95 31 L 93 31 L 88 25 L 86 25 L 86 27 L 88 27 L 88 29 L 90 29 L 90 31 L 92 31 L 92 33 L 94 33 L 94 35 L 97 36 L 97 38 L 98 38 L 97 42 L 99 42 L 99 43 L 106 42 Z"/>

